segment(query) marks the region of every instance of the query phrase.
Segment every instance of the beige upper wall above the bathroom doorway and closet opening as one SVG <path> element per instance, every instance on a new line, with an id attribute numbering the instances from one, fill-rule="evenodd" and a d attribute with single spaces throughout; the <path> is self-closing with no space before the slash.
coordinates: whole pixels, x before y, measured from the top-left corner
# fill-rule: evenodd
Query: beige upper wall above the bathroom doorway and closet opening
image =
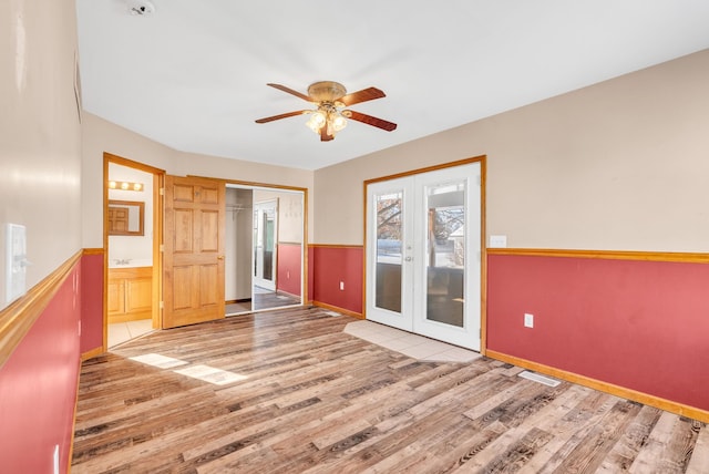
<path id="1" fill-rule="evenodd" d="M 312 189 L 312 172 L 261 165 L 239 159 L 183 153 L 96 115 L 84 113 L 83 125 L 83 246 L 103 247 L 103 153 L 164 169 L 176 176 L 205 176 Z M 311 196 L 312 193 L 309 193 Z M 312 209 L 312 205 L 309 205 Z M 312 221 L 312 216 L 309 216 Z M 312 230 L 310 230 L 310 238 Z"/>

